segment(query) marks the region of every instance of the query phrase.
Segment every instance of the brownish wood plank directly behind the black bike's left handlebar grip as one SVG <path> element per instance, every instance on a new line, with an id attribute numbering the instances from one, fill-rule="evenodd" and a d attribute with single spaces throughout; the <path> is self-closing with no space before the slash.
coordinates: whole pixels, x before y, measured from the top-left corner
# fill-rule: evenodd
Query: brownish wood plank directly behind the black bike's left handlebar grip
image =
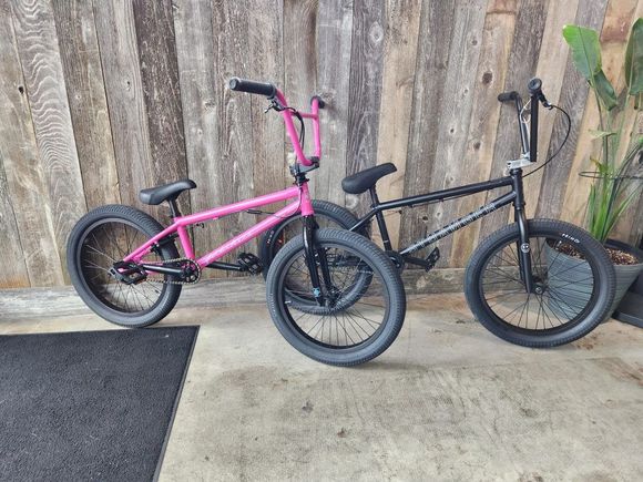
<path id="1" fill-rule="evenodd" d="M 549 0 L 537 2 L 519 0 L 503 92 L 518 91 L 524 93 L 527 83 L 535 75 L 549 3 Z M 520 156 L 520 136 L 513 105 L 502 104 L 496 139 L 493 164 L 490 171 L 491 177 L 500 177 L 507 161 Z M 486 202 L 500 196 L 503 191 L 494 189 L 489 192 Z M 486 216 L 480 226 L 480 238 L 489 236 L 507 224 L 507 215 L 506 209 L 500 209 Z"/>

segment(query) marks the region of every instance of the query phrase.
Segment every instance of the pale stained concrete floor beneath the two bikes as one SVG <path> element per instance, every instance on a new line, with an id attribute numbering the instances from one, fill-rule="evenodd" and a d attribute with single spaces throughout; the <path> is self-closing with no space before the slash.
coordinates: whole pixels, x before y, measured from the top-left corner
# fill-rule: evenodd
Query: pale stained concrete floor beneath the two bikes
<path id="1" fill-rule="evenodd" d="M 111 327 L 65 296 L 18 316 L 19 296 L 0 291 L 0 332 Z M 386 353 L 346 369 L 295 351 L 261 302 L 187 302 L 162 321 L 201 325 L 162 481 L 643 478 L 640 328 L 527 349 L 473 321 L 461 295 L 430 295 L 410 300 Z"/>

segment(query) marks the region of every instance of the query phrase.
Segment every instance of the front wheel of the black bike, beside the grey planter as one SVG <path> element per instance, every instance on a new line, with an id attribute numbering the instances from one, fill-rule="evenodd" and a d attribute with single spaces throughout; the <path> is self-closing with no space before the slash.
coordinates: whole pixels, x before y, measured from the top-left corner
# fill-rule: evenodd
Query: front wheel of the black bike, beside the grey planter
<path id="1" fill-rule="evenodd" d="M 520 233 L 512 224 L 471 256 L 465 277 L 471 311 L 492 334 L 525 347 L 588 335 L 609 316 L 614 298 L 614 267 L 604 248 L 588 232 L 553 219 L 529 221 L 529 239 L 534 291 L 528 294 L 520 279 Z"/>

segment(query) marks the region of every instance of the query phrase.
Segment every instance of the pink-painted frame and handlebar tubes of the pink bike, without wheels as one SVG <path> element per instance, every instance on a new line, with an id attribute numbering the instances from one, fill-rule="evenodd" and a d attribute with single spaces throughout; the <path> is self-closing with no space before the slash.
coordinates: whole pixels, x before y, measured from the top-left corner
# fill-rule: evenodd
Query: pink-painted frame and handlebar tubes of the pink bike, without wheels
<path id="1" fill-rule="evenodd" d="M 288 106 L 288 104 L 286 103 L 286 98 L 280 91 L 277 90 L 275 96 L 284 107 Z M 313 99 L 310 103 L 309 113 L 300 112 L 299 114 L 302 115 L 302 117 L 310 119 L 313 121 L 313 134 L 315 139 L 315 156 L 319 158 L 322 155 L 322 142 L 319 139 L 318 100 L 316 98 Z M 302 148 L 302 145 L 299 144 L 298 134 L 295 129 L 295 125 L 293 124 L 293 112 L 289 111 L 288 109 L 285 109 L 284 111 L 282 111 L 282 116 L 284 119 L 284 123 L 286 124 L 286 131 L 288 133 L 288 136 L 290 137 L 290 142 L 293 144 L 293 148 L 295 151 L 295 154 L 297 155 L 299 164 L 303 164 L 304 166 L 313 165 L 313 161 L 304 155 L 304 151 Z M 244 230 L 237 236 L 234 236 L 233 238 L 228 239 L 227 242 L 218 246 L 216 249 L 207 253 L 206 255 L 200 257 L 198 259 L 195 259 L 194 248 L 192 246 L 192 243 L 190 242 L 190 236 L 187 235 L 186 229 L 187 226 L 194 225 L 196 223 L 203 223 L 206 221 L 214 221 L 220 217 L 227 216 L 229 214 L 241 213 L 243 211 L 265 206 L 273 203 L 279 203 L 287 199 L 297 199 L 297 201 L 289 203 L 287 206 L 279 209 L 277 213 L 271 215 L 266 219 L 257 223 L 256 225 L 254 225 L 249 229 Z M 306 182 L 300 183 L 300 185 L 288 187 L 284 191 L 266 194 L 264 196 L 241 201 L 238 203 L 215 207 L 200 213 L 194 213 L 187 216 L 177 216 L 173 218 L 172 225 L 163 229 L 156 236 L 150 238 L 145 244 L 139 246 L 136 249 L 134 249 L 132 253 L 125 256 L 123 258 L 123 261 L 141 263 L 143 257 L 149 255 L 152 252 L 152 248 L 156 246 L 161 239 L 174 233 L 177 233 L 185 256 L 194 260 L 201 268 L 204 268 L 211 263 L 221 259 L 223 256 L 237 249 L 239 246 L 246 244 L 251 239 L 259 236 L 261 234 L 276 226 L 285 217 L 292 216 L 297 213 L 300 213 L 303 216 L 310 216 L 315 214 L 315 212 L 313 211 L 313 205 L 310 203 L 308 184 Z"/>

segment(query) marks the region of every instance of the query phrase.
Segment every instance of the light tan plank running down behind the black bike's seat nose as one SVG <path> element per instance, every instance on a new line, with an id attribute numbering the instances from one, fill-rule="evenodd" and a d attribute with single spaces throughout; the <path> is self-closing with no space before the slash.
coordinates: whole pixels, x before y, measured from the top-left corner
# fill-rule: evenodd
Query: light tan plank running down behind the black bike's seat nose
<path id="1" fill-rule="evenodd" d="M 419 0 L 394 0 L 387 4 L 377 163 L 391 162 L 397 172 L 379 183 L 378 195 L 382 201 L 404 196 L 421 6 Z M 396 247 L 401 214 L 389 212 L 385 215 Z"/>

